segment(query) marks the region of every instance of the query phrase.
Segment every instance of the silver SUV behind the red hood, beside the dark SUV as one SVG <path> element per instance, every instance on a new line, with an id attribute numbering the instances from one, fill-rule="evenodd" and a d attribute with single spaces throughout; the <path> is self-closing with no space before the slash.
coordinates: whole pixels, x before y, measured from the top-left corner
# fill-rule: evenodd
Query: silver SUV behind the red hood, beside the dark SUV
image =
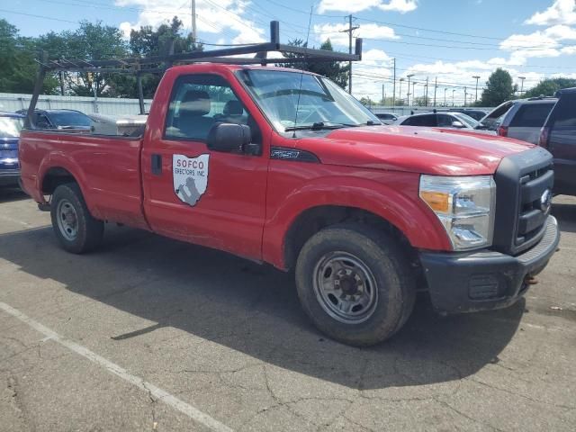
<path id="1" fill-rule="evenodd" d="M 537 144 L 540 129 L 556 101 L 555 97 L 531 97 L 501 103 L 480 121 L 476 129 L 496 130 L 501 137 Z"/>

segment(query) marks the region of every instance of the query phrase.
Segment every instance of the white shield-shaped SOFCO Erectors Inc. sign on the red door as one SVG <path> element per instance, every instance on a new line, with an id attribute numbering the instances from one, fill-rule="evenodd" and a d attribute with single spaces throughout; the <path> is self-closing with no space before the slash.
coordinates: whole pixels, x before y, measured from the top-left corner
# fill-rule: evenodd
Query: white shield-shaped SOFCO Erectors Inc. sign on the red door
<path id="1" fill-rule="evenodd" d="M 208 186 L 208 160 L 210 155 L 199 157 L 172 156 L 174 192 L 180 201 L 196 205 Z"/>

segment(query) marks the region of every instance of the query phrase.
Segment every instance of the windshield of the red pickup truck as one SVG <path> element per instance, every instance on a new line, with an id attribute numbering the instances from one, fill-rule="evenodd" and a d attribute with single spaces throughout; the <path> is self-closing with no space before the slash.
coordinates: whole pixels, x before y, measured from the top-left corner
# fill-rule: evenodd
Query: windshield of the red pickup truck
<path id="1" fill-rule="evenodd" d="M 381 124 L 362 103 L 321 76 L 278 70 L 243 70 L 239 77 L 279 132 L 315 125 Z"/>

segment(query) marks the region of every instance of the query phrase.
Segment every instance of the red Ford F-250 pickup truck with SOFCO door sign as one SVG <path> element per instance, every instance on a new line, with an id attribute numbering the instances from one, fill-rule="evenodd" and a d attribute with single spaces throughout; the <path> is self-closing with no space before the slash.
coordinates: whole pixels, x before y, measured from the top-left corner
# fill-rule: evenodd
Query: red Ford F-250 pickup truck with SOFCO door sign
<path id="1" fill-rule="evenodd" d="M 167 69 L 141 137 L 25 130 L 23 189 L 83 253 L 117 222 L 295 270 L 331 338 L 390 338 L 417 291 L 507 307 L 557 248 L 552 157 L 520 141 L 386 127 L 328 79 Z"/>

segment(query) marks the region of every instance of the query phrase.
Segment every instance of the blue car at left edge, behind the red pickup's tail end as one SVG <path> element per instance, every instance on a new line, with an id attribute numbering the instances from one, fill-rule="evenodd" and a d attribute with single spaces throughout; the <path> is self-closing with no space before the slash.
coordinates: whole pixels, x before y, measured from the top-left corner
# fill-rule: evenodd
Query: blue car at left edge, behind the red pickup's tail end
<path id="1" fill-rule="evenodd" d="M 18 140 L 23 120 L 14 112 L 0 112 L 0 186 L 18 184 Z"/>

